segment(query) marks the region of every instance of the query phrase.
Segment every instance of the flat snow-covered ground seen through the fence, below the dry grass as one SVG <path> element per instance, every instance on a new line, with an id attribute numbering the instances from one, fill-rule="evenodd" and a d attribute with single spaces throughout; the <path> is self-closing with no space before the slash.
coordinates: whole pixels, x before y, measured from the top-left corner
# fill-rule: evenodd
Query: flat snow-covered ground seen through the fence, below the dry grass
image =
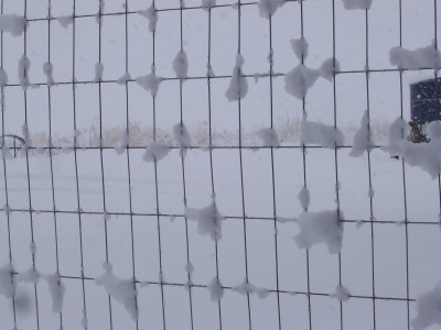
<path id="1" fill-rule="evenodd" d="M 344 218 L 342 240 L 342 284 L 351 296 L 375 295 L 390 300 L 376 300 L 377 329 L 402 329 L 407 327 L 407 305 L 394 298 L 409 298 L 431 289 L 439 280 L 441 242 L 438 227 L 438 180 L 419 168 L 405 166 L 406 201 L 408 220 L 402 226 L 404 187 L 401 161 L 390 158 L 383 151 L 372 152 L 373 215 L 369 220 L 370 199 L 368 197 L 367 157 L 348 157 L 349 150 L 338 150 L 340 200 Z M 154 215 L 157 196 L 153 163 L 142 162 L 144 151 L 130 151 L 130 184 L 132 212 Z M 282 329 L 292 326 L 309 328 L 306 254 L 299 249 L 294 238 L 299 226 L 292 221 L 276 222 L 268 218 L 298 218 L 302 207 L 297 195 L 303 187 L 303 161 L 300 150 L 275 150 L 275 201 L 269 150 L 243 151 L 245 211 L 243 210 L 239 152 L 237 150 L 213 151 L 214 187 L 218 212 L 226 217 L 220 221 L 222 239 L 218 241 L 218 272 L 223 286 L 240 285 L 245 273 L 245 243 L 243 212 L 247 217 L 247 266 L 248 279 L 258 288 L 277 289 L 277 274 L 281 308 Z M 185 223 L 189 229 L 189 255 L 194 266 L 192 282 L 192 310 L 194 326 L 198 329 L 218 328 L 218 305 L 212 302 L 205 286 L 216 275 L 215 243 L 209 235 L 198 233 L 197 223 L 185 222 L 183 201 L 182 165 L 179 150 L 172 150 L 158 162 L 159 228 L 161 252 L 158 242 L 158 218 L 154 216 L 133 216 L 130 218 L 129 183 L 127 155 L 117 155 L 114 150 L 104 154 L 105 202 L 109 217 L 107 221 L 108 260 L 114 274 L 129 279 L 133 274 L 132 237 L 135 244 L 135 275 L 138 285 L 139 324 L 141 328 L 162 328 L 162 298 L 158 284 L 143 286 L 143 282 L 159 282 L 160 261 L 164 283 L 165 321 L 170 329 L 190 329 L 190 298 L 184 285 L 187 250 Z M 105 220 L 103 216 L 104 194 L 99 151 L 78 151 L 78 191 L 82 208 L 82 240 L 84 275 L 86 288 L 87 320 L 90 329 L 108 328 L 108 296 L 104 287 L 92 278 L 100 276 L 106 261 Z M 55 222 L 52 204 L 50 158 L 29 157 L 30 186 L 33 213 L 33 231 L 36 245 L 35 266 L 42 274 L 56 271 Z M 310 190 L 311 212 L 335 210 L 334 151 L 314 148 L 306 154 L 306 182 Z M 74 153 L 53 157 L 56 232 L 60 273 L 64 277 L 66 293 L 63 299 L 63 326 L 77 329 L 83 314 L 82 280 L 69 279 L 80 276 L 79 217 Z M 212 202 L 209 154 L 207 151 L 191 150 L 184 158 L 185 194 L 187 206 L 203 208 Z M 29 209 L 26 161 L 24 157 L 7 161 L 7 183 L 9 206 L 12 209 Z M 2 180 L 4 185 L 4 182 Z M 2 189 L 4 191 L 4 189 Z M 1 204 L 4 205 L 4 195 Z M 72 213 L 67 213 L 72 212 Z M 95 213 L 96 212 L 96 213 Z M 116 216 L 116 213 L 120 213 Z M 1 263 L 9 262 L 7 218 L 2 216 Z M 259 219 L 260 218 L 260 219 Z M 396 223 L 395 223 L 396 222 Z M 428 222 L 419 224 L 418 222 Z M 431 223 L 431 224 L 430 224 Z M 28 211 L 13 211 L 10 215 L 10 234 L 13 266 L 18 273 L 32 266 L 31 222 Z M 372 245 L 374 230 L 374 250 Z M 406 244 L 408 241 L 408 244 Z M 407 260 L 408 249 L 408 260 Z M 373 273 L 373 253 L 374 267 Z M 340 328 L 340 305 L 327 295 L 335 292 L 338 284 L 338 256 L 330 254 L 324 244 L 313 245 L 309 255 L 309 276 L 312 295 L 312 322 L 314 329 Z M 407 265 L 408 262 L 408 265 Z M 407 273 L 407 268 L 409 273 Z M 373 282 L 374 274 L 374 282 Z M 409 277 L 407 277 L 409 276 Z M 284 293 L 287 292 L 287 293 Z M 292 293 L 300 293 L 292 295 Z M 18 307 L 19 329 L 35 327 L 33 307 L 33 285 L 19 282 L 18 294 L 23 300 Z M 47 284 L 37 284 L 40 327 L 54 329 L 60 322 L 57 314 L 52 312 L 52 299 Z M 26 300 L 30 299 L 30 301 Z M 270 293 L 260 299 L 250 296 L 252 329 L 277 329 L 277 294 Z M 28 302 L 26 302 L 28 301 Z M 2 320 L 12 328 L 11 300 L 1 298 Z M 29 306 L 26 305 L 29 304 Z M 226 329 L 248 328 L 247 297 L 240 293 L 225 289 L 220 300 L 223 327 Z M 122 305 L 111 300 L 112 322 L 116 329 L 135 329 Z M 410 317 L 416 315 L 415 302 L 410 302 Z M 373 302 L 369 298 L 352 297 L 343 302 L 344 326 L 348 329 L 373 328 Z M 433 328 L 435 329 L 435 328 Z"/>

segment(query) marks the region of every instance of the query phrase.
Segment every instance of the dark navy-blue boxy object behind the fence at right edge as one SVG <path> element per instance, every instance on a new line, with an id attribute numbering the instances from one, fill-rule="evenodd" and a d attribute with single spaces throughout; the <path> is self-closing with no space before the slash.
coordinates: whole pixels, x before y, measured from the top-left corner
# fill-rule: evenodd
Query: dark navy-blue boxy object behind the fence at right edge
<path id="1" fill-rule="evenodd" d="M 410 85 L 410 118 L 408 140 L 413 143 L 429 142 L 426 127 L 441 120 L 441 78 Z M 438 112 L 438 116 L 437 116 Z"/>

